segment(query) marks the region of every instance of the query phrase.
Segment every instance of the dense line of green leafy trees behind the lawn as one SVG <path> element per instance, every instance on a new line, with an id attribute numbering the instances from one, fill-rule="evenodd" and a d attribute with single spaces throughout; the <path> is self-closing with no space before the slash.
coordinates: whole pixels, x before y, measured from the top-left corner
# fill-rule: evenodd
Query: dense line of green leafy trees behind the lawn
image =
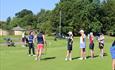
<path id="1" fill-rule="evenodd" d="M 102 32 L 115 35 L 115 1 L 99 1 L 60 0 L 53 10 L 41 9 L 37 14 L 23 9 L 17 12 L 15 17 L 8 17 L 5 22 L 0 21 L 0 28 L 11 30 L 21 26 L 27 30 L 42 30 L 47 34 L 59 31 L 66 34 L 72 31 L 74 35 L 78 35 L 79 30 L 83 29 L 86 33 Z"/>

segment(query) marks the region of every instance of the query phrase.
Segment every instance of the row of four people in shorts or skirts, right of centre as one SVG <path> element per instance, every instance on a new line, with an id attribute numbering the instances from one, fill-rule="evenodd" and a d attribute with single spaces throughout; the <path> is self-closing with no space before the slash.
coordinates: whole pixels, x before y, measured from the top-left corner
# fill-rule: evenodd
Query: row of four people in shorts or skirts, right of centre
<path id="1" fill-rule="evenodd" d="M 84 33 L 84 30 L 80 30 L 80 49 L 81 49 L 81 57 L 79 58 L 80 60 L 86 59 L 86 35 Z M 72 32 L 68 32 L 68 45 L 67 45 L 67 55 L 65 60 L 72 60 L 71 58 L 71 51 L 72 51 L 72 44 L 73 44 L 73 34 Z M 89 49 L 91 53 L 91 58 L 94 58 L 94 35 L 91 32 L 89 37 Z M 99 48 L 100 48 L 100 57 L 103 58 L 104 56 L 104 35 L 100 34 L 98 37 L 98 42 L 99 42 Z"/>

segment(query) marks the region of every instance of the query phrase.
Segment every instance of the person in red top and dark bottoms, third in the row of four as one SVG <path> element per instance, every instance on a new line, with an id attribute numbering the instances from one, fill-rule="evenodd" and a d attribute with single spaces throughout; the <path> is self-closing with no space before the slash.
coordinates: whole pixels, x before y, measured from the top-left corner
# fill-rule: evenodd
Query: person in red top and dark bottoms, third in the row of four
<path id="1" fill-rule="evenodd" d="M 91 58 L 94 58 L 94 36 L 93 36 L 93 33 L 91 32 L 90 35 L 89 35 L 89 49 L 91 50 L 90 53 L 91 53 Z"/>

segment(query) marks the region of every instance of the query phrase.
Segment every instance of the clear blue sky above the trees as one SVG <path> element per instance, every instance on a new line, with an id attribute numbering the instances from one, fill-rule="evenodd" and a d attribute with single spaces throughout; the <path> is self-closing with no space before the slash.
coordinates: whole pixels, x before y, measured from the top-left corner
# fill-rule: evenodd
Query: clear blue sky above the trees
<path id="1" fill-rule="evenodd" d="M 52 10 L 60 0 L 0 0 L 0 20 L 15 16 L 22 9 L 32 10 L 37 14 L 41 9 Z"/>

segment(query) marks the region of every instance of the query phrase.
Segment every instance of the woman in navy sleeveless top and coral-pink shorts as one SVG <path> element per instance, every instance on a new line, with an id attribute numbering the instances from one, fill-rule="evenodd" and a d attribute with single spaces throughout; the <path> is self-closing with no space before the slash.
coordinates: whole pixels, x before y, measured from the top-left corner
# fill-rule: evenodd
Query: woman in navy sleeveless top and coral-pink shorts
<path id="1" fill-rule="evenodd" d="M 45 37 L 43 32 L 40 32 L 37 37 L 37 49 L 36 49 L 36 60 L 41 59 L 41 54 L 44 49 Z"/>

